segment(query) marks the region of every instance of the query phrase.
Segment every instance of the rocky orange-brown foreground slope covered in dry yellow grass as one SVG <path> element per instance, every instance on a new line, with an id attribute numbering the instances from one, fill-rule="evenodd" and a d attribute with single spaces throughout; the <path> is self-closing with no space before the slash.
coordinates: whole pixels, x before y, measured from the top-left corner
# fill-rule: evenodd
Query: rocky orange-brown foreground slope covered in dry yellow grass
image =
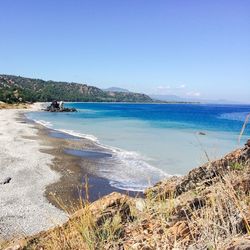
<path id="1" fill-rule="evenodd" d="M 250 140 L 145 198 L 112 193 L 15 249 L 250 249 Z M 26 248 L 25 248 L 26 247 Z"/>

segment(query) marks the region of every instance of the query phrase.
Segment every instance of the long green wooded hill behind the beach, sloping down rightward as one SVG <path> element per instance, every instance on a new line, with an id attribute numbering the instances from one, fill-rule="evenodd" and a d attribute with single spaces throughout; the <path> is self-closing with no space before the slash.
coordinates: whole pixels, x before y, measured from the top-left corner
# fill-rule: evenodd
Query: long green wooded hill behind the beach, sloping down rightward
<path id="1" fill-rule="evenodd" d="M 21 76 L 0 75 L 0 101 L 50 102 L 63 100 L 71 102 L 142 102 L 153 100 L 140 93 L 106 92 L 80 83 L 44 81 Z"/>

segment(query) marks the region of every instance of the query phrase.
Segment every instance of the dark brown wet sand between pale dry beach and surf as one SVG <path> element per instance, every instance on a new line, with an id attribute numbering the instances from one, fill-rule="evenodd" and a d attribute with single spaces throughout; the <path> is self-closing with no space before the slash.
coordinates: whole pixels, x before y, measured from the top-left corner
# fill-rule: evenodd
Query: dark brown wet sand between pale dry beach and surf
<path id="1" fill-rule="evenodd" d="M 95 201 L 111 192 L 142 196 L 141 192 L 112 187 L 107 179 L 94 175 L 98 160 L 112 156 L 94 142 L 45 128 L 24 117 L 23 122 L 33 123 L 37 128 L 41 145 L 49 147 L 41 152 L 53 156 L 50 167 L 61 174 L 60 180 L 47 186 L 45 191 L 54 206 L 72 212 L 80 206 L 81 198 Z"/>

